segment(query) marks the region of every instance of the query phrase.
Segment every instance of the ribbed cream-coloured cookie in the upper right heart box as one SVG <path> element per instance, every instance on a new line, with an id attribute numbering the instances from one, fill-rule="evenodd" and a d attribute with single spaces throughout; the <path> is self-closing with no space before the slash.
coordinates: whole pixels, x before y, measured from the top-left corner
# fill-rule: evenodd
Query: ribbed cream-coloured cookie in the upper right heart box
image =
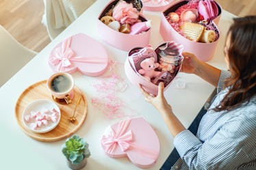
<path id="1" fill-rule="evenodd" d="M 203 31 L 205 27 L 196 23 L 185 22 L 180 26 L 180 29 L 185 34 L 185 37 L 194 42 L 199 42 L 201 37 L 203 36 Z"/>

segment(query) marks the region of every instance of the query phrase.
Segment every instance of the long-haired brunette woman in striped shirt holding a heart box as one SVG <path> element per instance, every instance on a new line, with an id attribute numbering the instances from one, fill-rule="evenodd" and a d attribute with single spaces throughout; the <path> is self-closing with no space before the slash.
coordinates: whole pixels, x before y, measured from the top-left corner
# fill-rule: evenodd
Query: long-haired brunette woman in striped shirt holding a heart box
<path id="1" fill-rule="evenodd" d="M 145 99 L 161 113 L 175 138 L 181 158 L 172 169 L 256 169 L 256 16 L 234 19 L 224 53 L 230 72 L 209 66 L 192 53 L 183 53 L 181 71 L 201 76 L 218 92 L 196 135 L 172 112 L 164 98 L 163 83 L 157 96 L 140 85 Z"/>

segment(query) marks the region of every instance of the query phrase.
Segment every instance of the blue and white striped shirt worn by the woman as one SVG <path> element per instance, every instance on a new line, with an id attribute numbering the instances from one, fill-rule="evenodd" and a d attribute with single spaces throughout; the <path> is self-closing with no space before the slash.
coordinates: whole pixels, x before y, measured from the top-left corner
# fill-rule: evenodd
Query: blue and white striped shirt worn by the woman
<path id="1" fill-rule="evenodd" d="M 221 71 L 217 95 L 196 134 L 183 130 L 174 139 L 181 158 L 172 169 L 256 169 L 256 96 L 231 111 L 216 112 L 228 89 L 230 72 Z"/>

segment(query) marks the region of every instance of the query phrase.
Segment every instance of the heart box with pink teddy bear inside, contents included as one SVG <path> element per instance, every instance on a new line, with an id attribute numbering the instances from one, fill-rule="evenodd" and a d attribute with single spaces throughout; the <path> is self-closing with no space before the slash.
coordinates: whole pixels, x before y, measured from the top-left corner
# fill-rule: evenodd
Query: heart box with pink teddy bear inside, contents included
<path id="1" fill-rule="evenodd" d="M 182 50 L 183 45 L 173 41 L 155 50 L 151 46 L 133 48 L 125 61 L 125 74 L 133 85 L 141 84 L 155 96 L 160 82 L 164 83 L 165 90 L 177 76 L 183 61 Z"/>

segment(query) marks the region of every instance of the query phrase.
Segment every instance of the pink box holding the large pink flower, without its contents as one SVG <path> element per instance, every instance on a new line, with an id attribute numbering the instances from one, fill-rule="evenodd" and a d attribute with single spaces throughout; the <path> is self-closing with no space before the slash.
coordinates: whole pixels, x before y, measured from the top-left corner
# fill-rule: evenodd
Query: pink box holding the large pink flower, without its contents
<path id="1" fill-rule="evenodd" d="M 101 22 L 101 18 L 112 8 L 113 5 L 116 5 L 116 3 L 118 3 L 118 0 L 110 1 L 110 3 L 108 3 L 105 9 L 101 12 L 97 20 L 98 31 L 102 40 L 107 42 L 107 44 L 110 44 L 123 51 L 129 51 L 133 47 L 146 46 L 149 44 L 151 29 L 145 31 L 144 33 L 130 35 L 129 33 L 120 33 L 114 29 L 111 29 Z M 146 18 L 142 16 L 142 14 L 140 14 L 139 19 L 146 21 Z"/>

